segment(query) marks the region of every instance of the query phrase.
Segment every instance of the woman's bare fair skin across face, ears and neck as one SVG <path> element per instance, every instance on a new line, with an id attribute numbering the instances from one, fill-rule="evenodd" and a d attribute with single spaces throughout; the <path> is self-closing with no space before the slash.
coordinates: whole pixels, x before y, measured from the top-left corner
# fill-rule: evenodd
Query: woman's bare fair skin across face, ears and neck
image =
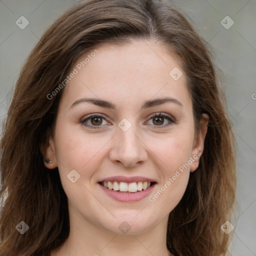
<path id="1" fill-rule="evenodd" d="M 172 255 L 166 247 L 168 215 L 197 168 L 207 121 L 197 133 L 184 72 L 177 80 L 169 75 L 181 67 L 159 42 L 96 48 L 98 53 L 65 86 L 54 135 L 41 149 L 52 160 L 45 166 L 58 167 L 68 198 L 70 233 L 51 256 Z M 167 96 L 174 100 L 141 108 L 146 100 Z M 111 101 L 116 109 L 84 101 L 73 104 L 89 97 Z M 160 112 L 172 121 L 152 117 Z M 86 119 L 92 113 L 101 117 Z M 131 125 L 126 131 L 118 126 L 123 118 Z M 184 163 L 189 167 L 172 179 Z M 72 169 L 80 175 L 74 183 L 67 178 Z M 156 184 L 145 198 L 120 202 L 98 183 L 114 175 L 144 176 Z M 167 188 L 154 196 L 164 185 Z M 130 226 L 127 233 L 119 229 L 123 221 Z"/>

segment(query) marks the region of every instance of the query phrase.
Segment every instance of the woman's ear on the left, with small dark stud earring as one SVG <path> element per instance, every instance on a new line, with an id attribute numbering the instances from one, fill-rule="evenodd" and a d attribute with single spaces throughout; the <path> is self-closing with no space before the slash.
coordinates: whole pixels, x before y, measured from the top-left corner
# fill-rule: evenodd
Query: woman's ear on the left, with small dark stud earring
<path id="1" fill-rule="evenodd" d="M 40 151 L 43 155 L 44 166 L 48 169 L 54 169 L 57 167 L 56 153 L 54 147 L 54 141 L 51 136 L 48 137 L 45 143 L 40 144 Z M 45 159 L 48 159 L 47 163 Z"/>

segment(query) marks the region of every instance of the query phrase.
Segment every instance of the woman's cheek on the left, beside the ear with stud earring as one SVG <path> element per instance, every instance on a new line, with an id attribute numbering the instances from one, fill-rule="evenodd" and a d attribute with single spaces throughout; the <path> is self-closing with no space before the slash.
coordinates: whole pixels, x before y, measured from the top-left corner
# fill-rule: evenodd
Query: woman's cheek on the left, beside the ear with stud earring
<path id="1" fill-rule="evenodd" d="M 103 157 L 102 149 L 109 138 L 98 137 L 95 134 L 85 135 L 84 131 L 81 132 L 66 125 L 56 132 L 55 141 L 60 180 L 69 204 L 80 205 L 79 207 L 85 212 L 88 204 L 91 204 L 92 208 L 96 204 L 88 191 L 89 182 L 95 170 L 100 167 L 99 158 Z M 70 176 L 75 176 L 74 183 L 68 179 Z M 86 207 L 81 205 L 84 200 L 87 203 Z"/>

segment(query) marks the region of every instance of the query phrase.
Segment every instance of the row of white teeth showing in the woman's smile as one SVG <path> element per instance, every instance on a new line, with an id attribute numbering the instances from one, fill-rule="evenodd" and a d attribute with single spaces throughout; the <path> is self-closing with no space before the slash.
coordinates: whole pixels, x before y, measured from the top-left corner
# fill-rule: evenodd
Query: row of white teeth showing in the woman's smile
<path id="1" fill-rule="evenodd" d="M 142 189 L 145 190 L 150 186 L 150 182 L 144 181 L 144 182 L 131 182 L 131 183 L 126 183 L 126 182 L 120 182 L 118 183 L 117 181 L 104 181 L 101 182 L 104 187 L 108 189 L 113 189 L 115 191 L 122 191 L 122 192 L 137 192 L 141 191 Z"/>

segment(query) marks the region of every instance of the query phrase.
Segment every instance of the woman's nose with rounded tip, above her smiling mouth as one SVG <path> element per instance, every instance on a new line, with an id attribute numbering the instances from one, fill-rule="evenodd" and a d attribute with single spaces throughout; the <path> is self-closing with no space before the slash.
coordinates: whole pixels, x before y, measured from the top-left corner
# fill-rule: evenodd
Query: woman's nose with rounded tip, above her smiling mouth
<path id="1" fill-rule="evenodd" d="M 135 167 L 147 159 L 146 145 L 135 125 L 123 131 L 117 127 L 116 135 L 112 138 L 109 159 L 125 167 Z"/>

